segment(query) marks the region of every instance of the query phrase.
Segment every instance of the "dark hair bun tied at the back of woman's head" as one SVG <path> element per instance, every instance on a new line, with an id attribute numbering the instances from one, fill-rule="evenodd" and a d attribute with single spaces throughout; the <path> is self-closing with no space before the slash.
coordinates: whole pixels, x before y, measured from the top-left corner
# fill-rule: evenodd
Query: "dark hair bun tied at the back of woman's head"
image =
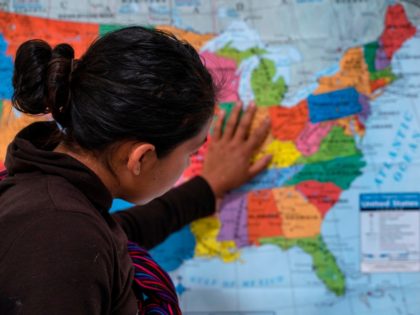
<path id="1" fill-rule="evenodd" d="M 52 49 L 43 40 L 24 42 L 16 53 L 13 106 L 32 115 L 52 113 L 64 124 L 73 58 L 74 50 L 68 44 Z"/>

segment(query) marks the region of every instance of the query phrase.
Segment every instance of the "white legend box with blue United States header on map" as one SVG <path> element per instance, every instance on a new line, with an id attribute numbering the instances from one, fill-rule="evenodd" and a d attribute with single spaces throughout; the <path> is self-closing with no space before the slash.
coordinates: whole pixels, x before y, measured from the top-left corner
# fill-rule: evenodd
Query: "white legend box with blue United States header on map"
<path id="1" fill-rule="evenodd" d="M 361 271 L 420 271 L 420 193 L 361 194 Z"/>

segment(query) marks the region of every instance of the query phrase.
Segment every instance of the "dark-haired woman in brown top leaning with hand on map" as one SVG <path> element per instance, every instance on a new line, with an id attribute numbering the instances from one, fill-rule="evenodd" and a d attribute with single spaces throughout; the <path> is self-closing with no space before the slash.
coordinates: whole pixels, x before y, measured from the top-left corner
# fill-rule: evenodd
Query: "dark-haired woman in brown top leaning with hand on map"
<path id="1" fill-rule="evenodd" d="M 180 313 L 167 275 L 127 242 L 151 248 L 213 214 L 218 198 L 268 164 L 249 161 L 269 122 L 249 135 L 255 108 L 239 119 L 237 106 L 222 132 L 219 115 L 202 175 L 167 192 L 214 115 L 215 85 L 197 52 L 129 27 L 73 58 L 69 45 L 41 40 L 16 54 L 15 108 L 54 121 L 28 126 L 8 148 L 0 313 Z M 113 198 L 143 205 L 111 215 Z"/>

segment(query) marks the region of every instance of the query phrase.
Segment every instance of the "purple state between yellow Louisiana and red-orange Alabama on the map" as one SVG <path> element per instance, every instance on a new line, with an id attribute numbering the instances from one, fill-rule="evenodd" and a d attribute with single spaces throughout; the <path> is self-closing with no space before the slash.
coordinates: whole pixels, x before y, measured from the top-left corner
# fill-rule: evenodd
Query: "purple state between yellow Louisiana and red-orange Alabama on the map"
<path id="1" fill-rule="evenodd" d="M 228 194 L 220 207 L 219 241 L 234 241 L 238 248 L 249 245 L 247 194 L 235 192 Z"/>

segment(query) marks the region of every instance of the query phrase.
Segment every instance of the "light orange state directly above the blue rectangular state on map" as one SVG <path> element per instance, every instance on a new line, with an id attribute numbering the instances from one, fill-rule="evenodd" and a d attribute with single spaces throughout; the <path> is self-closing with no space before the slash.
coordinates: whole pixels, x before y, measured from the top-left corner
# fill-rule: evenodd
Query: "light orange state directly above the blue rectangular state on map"
<path id="1" fill-rule="evenodd" d="M 314 94 L 354 87 L 359 93 L 370 95 L 370 75 L 361 47 L 350 48 L 340 61 L 340 70 L 332 76 L 319 78 Z"/>

